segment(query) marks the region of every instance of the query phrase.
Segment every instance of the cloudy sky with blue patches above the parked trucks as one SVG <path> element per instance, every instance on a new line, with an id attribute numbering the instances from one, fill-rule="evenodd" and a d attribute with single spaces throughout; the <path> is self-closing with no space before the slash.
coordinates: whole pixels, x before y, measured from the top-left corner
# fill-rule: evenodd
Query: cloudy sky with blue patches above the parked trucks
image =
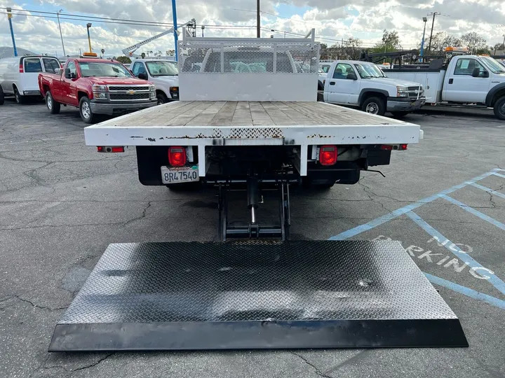
<path id="1" fill-rule="evenodd" d="M 261 0 L 261 4 L 262 36 L 270 36 L 271 29 L 275 30 L 275 36 L 282 38 L 284 32 L 286 36 L 294 36 L 315 28 L 318 41 L 328 45 L 354 36 L 361 38 L 364 46 L 372 46 L 381 38 L 383 29 L 394 29 L 398 31 L 404 48 L 414 48 L 422 38 L 422 17 L 435 11 L 442 14 L 436 18 L 434 32 L 447 31 L 457 36 L 476 31 L 490 45 L 501 43 L 505 34 L 505 1 L 502 0 Z M 120 55 L 128 45 L 170 27 L 124 25 L 98 18 L 173 22 L 169 0 L 0 0 L 0 46 L 12 45 L 4 9 L 8 6 L 15 13 L 13 27 L 18 47 L 58 55 L 62 55 L 58 20 L 50 12 L 60 9 L 67 55 L 79 53 L 79 48 L 87 49 L 87 22 L 93 23 L 93 49 L 98 52 L 104 48 L 105 55 L 111 56 Z M 195 18 L 198 35 L 201 35 L 200 25 L 203 24 L 207 25 L 206 36 L 255 36 L 255 7 L 254 0 L 178 0 L 177 18 L 178 23 Z M 36 13 L 37 10 L 48 13 Z M 86 17 L 75 20 L 74 15 Z M 431 20 L 427 34 L 429 27 Z M 173 37 L 168 35 L 137 52 L 165 52 L 171 48 Z"/>

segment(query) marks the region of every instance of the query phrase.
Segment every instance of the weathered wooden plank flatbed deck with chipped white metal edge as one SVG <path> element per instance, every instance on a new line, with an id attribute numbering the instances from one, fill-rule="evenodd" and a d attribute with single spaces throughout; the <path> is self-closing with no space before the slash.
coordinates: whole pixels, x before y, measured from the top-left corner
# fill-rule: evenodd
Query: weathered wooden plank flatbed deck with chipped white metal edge
<path id="1" fill-rule="evenodd" d="M 84 133 L 88 146 L 212 146 L 214 139 L 228 139 L 220 143 L 228 145 L 236 139 L 241 145 L 258 139 L 264 145 L 409 144 L 422 138 L 419 125 L 323 102 L 172 102 Z"/>

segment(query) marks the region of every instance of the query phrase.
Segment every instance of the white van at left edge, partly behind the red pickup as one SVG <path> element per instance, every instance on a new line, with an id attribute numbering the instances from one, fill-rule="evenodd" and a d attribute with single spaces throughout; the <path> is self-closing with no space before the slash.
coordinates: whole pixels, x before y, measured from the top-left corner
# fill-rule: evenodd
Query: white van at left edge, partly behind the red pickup
<path id="1" fill-rule="evenodd" d="M 0 59 L 0 86 L 5 95 L 13 94 L 18 104 L 27 97 L 40 96 L 39 73 L 57 72 L 61 68 L 55 57 L 26 55 Z"/>

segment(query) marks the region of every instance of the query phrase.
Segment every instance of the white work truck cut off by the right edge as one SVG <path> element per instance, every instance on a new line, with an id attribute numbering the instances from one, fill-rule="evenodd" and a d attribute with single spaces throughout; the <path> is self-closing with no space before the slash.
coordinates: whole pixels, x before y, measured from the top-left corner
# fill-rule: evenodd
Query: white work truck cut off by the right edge
<path id="1" fill-rule="evenodd" d="M 440 67 L 395 68 L 387 76 L 415 80 L 426 89 L 429 104 L 478 104 L 494 109 L 505 120 L 505 66 L 496 59 L 479 55 L 458 55 Z"/>

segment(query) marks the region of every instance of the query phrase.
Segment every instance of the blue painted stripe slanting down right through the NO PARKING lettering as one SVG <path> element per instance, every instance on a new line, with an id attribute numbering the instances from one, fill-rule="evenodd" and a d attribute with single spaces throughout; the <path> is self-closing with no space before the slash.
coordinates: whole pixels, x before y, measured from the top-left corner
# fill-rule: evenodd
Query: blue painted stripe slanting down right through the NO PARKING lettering
<path id="1" fill-rule="evenodd" d="M 438 242 L 440 244 L 443 244 L 443 246 L 445 246 L 445 248 L 447 248 L 449 251 L 451 251 L 451 253 L 456 255 L 457 258 L 462 260 L 466 265 L 469 265 L 469 267 L 471 268 L 471 272 L 473 272 L 473 274 L 477 274 L 478 270 L 485 270 L 486 274 L 490 277 L 488 281 L 490 281 L 492 286 L 494 286 L 499 291 L 501 291 L 501 293 L 505 294 L 505 282 L 501 281 L 501 279 L 499 279 L 494 274 L 494 272 L 483 267 L 476 260 L 473 260 L 471 255 L 462 251 L 457 245 L 455 245 L 454 243 L 452 243 L 452 241 L 447 239 L 447 237 L 440 234 L 440 232 L 438 232 L 433 227 L 431 227 L 431 225 L 426 223 L 426 221 L 424 221 L 424 219 L 422 219 L 420 216 L 415 214 L 414 211 L 410 211 L 405 215 L 408 216 L 410 219 L 412 219 L 412 221 L 417 223 L 417 225 L 420 228 L 422 228 L 424 231 L 426 231 L 429 235 L 431 235 L 432 237 L 436 237 Z"/>

